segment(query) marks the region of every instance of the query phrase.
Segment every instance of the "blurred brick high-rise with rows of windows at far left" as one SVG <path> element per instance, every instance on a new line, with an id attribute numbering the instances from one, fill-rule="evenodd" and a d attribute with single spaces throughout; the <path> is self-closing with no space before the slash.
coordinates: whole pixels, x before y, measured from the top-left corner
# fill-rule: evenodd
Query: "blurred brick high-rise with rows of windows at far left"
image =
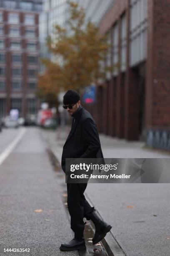
<path id="1" fill-rule="evenodd" d="M 41 0 L 0 1 L 0 117 L 36 115 Z"/>

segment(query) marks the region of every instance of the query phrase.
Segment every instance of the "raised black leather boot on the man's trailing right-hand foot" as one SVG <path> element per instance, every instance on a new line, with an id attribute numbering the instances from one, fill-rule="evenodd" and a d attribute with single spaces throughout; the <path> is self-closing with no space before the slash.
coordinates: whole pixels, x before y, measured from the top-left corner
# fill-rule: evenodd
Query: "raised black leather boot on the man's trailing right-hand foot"
<path id="1" fill-rule="evenodd" d="M 95 225 L 95 236 L 92 238 L 92 244 L 96 244 L 105 237 L 105 235 L 107 234 L 107 232 L 110 231 L 112 226 L 101 220 L 100 217 L 97 216 L 95 211 L 93 211 L 90 215 L 90 220 L 92 220 Z"/>

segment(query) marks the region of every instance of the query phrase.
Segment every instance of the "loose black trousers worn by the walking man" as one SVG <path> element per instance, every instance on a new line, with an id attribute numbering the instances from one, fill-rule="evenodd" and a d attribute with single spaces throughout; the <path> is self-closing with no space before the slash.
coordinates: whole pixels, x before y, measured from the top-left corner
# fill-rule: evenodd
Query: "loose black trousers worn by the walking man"
<path id="1" fill-rule="evenodd" d="M 90 220 L 90 214 L 94 211 L 84 196 L 87 183 L 67 183 L 67 206 L 71 217 L 71 229 L 75 238 L 83 237 L 83 218 Z"/>

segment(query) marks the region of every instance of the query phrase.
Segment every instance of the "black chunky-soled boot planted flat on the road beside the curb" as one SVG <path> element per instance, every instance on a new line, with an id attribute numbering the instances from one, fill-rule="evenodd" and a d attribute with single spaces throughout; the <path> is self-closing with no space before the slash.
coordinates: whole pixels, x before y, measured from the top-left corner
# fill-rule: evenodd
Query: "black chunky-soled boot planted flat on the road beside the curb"
<path id="1" fill-rule="evenodd" d="M 60 246 L 61 251 L 85 251 L 86 246 L 85 246 L 85 239 L 82 238 L 73 238 L 70 242 L 68 243 L 62 243 Z"/>

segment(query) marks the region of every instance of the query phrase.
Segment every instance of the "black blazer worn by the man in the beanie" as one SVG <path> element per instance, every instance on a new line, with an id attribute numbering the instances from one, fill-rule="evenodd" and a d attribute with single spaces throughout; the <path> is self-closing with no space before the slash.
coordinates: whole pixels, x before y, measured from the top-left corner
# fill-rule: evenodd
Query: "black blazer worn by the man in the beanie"
<path id="1" fill-rule="evenodd" d="M 103 158 L 95 121 L 83 107 L 63 146 L 61 166 L 64 172 L 66 158 Z"/>

